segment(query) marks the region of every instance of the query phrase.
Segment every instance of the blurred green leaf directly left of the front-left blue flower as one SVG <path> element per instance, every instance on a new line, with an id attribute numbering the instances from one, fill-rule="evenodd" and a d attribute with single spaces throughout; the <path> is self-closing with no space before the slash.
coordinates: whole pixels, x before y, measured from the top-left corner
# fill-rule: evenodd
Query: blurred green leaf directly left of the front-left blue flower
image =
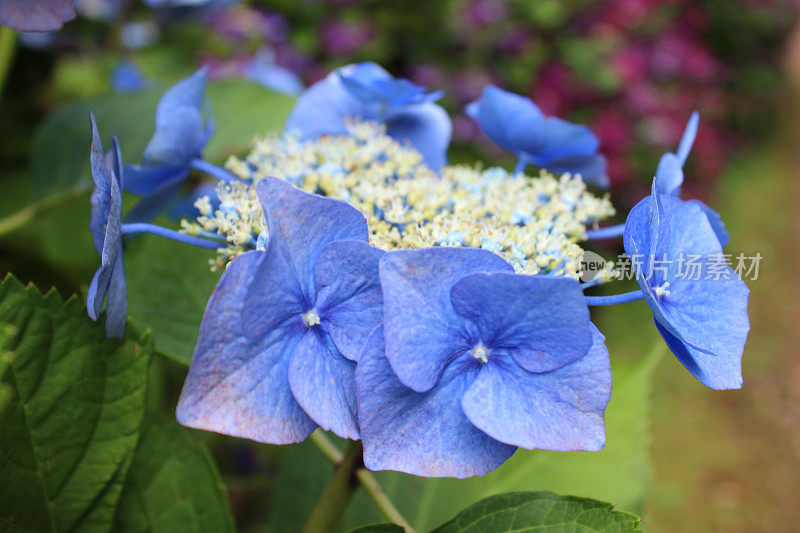
<path id="1" fill-rule="evenodd" d="M 125 251 L 128 316 L 151 328 L 156 349 L 181 364 L 192 359 L 206 302 L 219 280 L 215 253 L 142 235 Z"/>

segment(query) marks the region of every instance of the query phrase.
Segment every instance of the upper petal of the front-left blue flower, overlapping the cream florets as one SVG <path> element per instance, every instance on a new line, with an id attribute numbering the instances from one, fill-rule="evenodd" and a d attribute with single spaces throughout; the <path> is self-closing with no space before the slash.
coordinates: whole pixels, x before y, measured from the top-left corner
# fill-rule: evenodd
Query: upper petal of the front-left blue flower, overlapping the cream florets
<path id="1" fill-rule="evenodd" d="M 303 192 L 270 177 L 258 182 L 256 194 L 264 208 L 269 241 L 242 315 L 247 334 L 253 338 L 290 315 L 312 308 L 316 297 L 314 261 L 325 245 L 369 240 L 366 219 L 344 202 Z"/>

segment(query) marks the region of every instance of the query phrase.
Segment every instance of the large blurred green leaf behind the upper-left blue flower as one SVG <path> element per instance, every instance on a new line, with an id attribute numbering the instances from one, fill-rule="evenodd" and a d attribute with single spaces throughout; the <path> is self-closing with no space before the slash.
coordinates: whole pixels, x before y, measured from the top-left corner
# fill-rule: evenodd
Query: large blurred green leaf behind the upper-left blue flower
<path id="1" fill-rule="evenodd" d="M 34 194 L 43 198 L 88 183 L 89 110 L 94 112 L 103 140 L 119 138 L 125 162 L 138 162 L 155 128 L 155 109 L 164 89 L 117 93 L 75 102 L 49 115 L 36 131 L 32 161 Z M 293 100 L 244 80 L 209 83 L 216 132 L 204 155 L 222 161 L 245 151 L 253 137 L 282 127 Z"/>

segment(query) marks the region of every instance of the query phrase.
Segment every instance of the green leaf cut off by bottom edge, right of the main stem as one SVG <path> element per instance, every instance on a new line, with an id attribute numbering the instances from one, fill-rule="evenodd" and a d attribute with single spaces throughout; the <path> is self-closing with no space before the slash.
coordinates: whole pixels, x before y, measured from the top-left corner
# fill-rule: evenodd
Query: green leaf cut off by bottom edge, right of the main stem
<path id="1" fill-rule="evenodd" d="M 626 533 L 640 531 L 641 520 L 615 511 L 610 503 L 559 496 L 552 492 L 511 492 L 471 505 L 433 533 L 536 531 L 538 533 Z M 402 532 L 389 524 L 367 526 L 352 533 Z"/>

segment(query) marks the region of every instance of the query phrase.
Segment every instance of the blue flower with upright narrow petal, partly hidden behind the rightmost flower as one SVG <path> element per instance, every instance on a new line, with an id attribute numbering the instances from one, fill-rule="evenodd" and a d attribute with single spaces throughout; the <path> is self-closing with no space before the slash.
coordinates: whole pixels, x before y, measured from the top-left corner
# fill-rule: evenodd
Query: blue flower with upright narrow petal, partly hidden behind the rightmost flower
<path id="1" fill-rule="evenodd" d="M 686 129 L 683 131 L 681 142 L 678 144 L 678 151 L 676 153 L 667 152 L 661 156 L 658 161 L 658 168 L 656 169 L 656 181 L 661 188 L 662 194 L 671 194 L 672 196 L 681 196 L 681 186 L 683 185 L 683 165 L 686 164 L 686 159 L 689 157 L 689 152 L 692 150 L 692 145 L 697 137 L 697 127 L 700 124 L 700 114 L 695 111 L 689 118 L 686 124 Z M 719 213 L 708 207 L 700 200 L 689 200 L 691 204 L 698 206 L 708 217 L 708 221 L 714 230 L 714 233 L 719 239 L 719 243 L 725 247 L 730 240 L 730 235 L 725 229 L 725 223 Z"/>

